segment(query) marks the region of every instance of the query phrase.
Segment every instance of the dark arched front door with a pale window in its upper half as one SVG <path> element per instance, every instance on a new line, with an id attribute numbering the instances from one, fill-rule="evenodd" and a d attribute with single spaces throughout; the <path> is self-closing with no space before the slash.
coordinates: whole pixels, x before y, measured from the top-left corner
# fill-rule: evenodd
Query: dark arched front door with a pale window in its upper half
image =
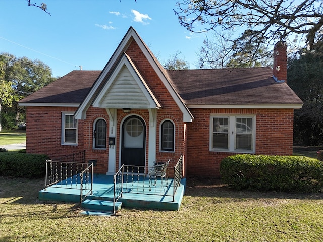
<path id="1" fill-rule="evenodd" d="M 128 117 L 122 125 L 121 164 L 145 166 L 146 127 L 138 116 Z"/>

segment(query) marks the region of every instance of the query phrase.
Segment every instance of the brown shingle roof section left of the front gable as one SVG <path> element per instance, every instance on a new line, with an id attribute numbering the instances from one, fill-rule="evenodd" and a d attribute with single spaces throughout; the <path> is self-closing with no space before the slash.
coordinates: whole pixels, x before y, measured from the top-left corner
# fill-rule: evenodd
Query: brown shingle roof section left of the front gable
<path id="1" fill-rule="evenodd" d="M 72 71 L 27 96 L 23 103 L 81 103 L 101 71 Z"/>

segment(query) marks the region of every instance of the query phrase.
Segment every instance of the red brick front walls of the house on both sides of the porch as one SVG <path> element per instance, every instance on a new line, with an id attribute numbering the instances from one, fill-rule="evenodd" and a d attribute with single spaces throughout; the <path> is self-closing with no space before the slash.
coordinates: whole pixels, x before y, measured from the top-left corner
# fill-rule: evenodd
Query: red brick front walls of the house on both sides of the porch
<path id="1" fill-rule="evenodd" d="M 156 161 L 171 159 L 173 167 L 179 157 L 184 155 L 184 174 L 220 176 L 220 162 L 224 157 L 234 153 L 209 151 L 210 114 L 254 114 L 256 116 L 256 154 L 292 154 L 293 109 L 192 109 L 195 119 L 192 123 L 183 122 L 183 114 L 173 100 L 165 85 L 150 66 L 138 45 L 133 41 L 126 51 L 140 70 L 144 80 L 159 99 L 163 108 L 157 110 L 156 141 L 149 141 L 148 110 L 132 110 L 143 118 L 146 124 L 146 164 L 150 142 L 156 142 Z M 75 152 L 86 151 L 86 160 L 97 159 L 100 173 L 106 173 L 109 149 L 93 149 L 93 122 L 104 118 L 109 134 L 109 116 L 104 108 L 90 107 L 85 120 L 78 121 L 78 145 L 61 145 L 62 111 L 75 111 L 69 107 L 27 107 L 27 152 L 45 153 L 50 158 L 58 158 Z M 116 170 L 120 162 L 121 125 L 127 114 L 117 111 L 116 133 Z M 171 119 L 175 124 L 175 152 L 160 152 L 160 123 Z M 149 142 L 148 142 L 149 141 Z M 172 172 L 172 171 L 171 171 Z"/>

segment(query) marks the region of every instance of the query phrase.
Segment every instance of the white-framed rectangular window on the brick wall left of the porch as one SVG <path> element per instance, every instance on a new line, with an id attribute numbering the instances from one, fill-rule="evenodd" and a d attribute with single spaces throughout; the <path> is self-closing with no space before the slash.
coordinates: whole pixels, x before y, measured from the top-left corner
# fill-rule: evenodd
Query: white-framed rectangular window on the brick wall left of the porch
<path id="1" fill-rule="evenodd" d="M 62 145 L 77 145 L 77 119 L 74 113 L 62 113 Z"/>

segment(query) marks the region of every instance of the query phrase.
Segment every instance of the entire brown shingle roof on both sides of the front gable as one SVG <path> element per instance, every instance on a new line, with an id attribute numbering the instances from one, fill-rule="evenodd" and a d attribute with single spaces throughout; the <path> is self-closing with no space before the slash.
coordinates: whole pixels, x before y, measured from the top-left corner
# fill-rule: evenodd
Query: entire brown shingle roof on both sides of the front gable
<path id="1" fill-rule="evenodd" d="M 186 105 L 302 104 L 271 68 L 168 70 L 168 79 Z M 101 71 L 72 71 L 21 103 L 80 104 Z"/>

